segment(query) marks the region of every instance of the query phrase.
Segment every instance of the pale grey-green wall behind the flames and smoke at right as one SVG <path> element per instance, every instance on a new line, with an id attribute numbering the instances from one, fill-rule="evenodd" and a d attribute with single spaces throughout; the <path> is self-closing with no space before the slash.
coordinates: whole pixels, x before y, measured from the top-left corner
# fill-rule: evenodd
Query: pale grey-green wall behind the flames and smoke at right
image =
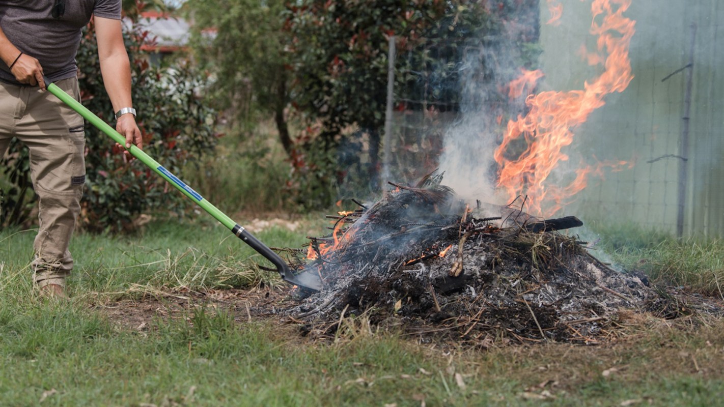
<path id="1" fill-rule="evenodd" d="M 581 89 L 599 73 L 589 67 L 581 47 L 595 49 L 588 33 L 590 1 L 562 0 L 560 25 L 546 25 L 541 1 L 539 90 Z M 675 233 L 679 166 L 687 166 L 683 233 L 724 235 L 724 1 L 633 0 L 624 14 L 636 20 L 631 42 L 634 78 L 623 93 L 608 95 L 586 124 L 576 129 L 571 160 L 626 160 L 622 171 L 592 178 L 566 213 L 619 220 Z M 692 29 L 695 25 L 695 32 Z M 694 53 L 689 64 L 692 38 Z M 598 71 L 597 71 L 598 69 Z M 691 81 L 689 152 L 681 138 L 686 85 Z M 674 73 L 677 72 L 677 73 Z M 595 157 L 595 158 L 594 158 Z M 686 158 L 686 160 L 684 160 Z"/>

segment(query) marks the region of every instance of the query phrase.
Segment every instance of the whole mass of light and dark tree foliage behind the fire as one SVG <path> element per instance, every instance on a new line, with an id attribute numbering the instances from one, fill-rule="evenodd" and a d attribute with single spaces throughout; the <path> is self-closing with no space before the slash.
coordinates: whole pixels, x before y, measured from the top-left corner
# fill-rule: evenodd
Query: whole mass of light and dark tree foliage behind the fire
<path id="1" fill-rule="evenodd" d="M 473 40 L 483 47 L 500 41 L 496 35 L 502 21 L 523 6 L 518 0 L 500 1 L 496 7 L 467 0 L 304 0 L 283 7 L 280 1 L 249 0 L 185 4 L 195 22 L 195 56 L 216 78 L 209 97 L 227 109 L 232 122 L 248 122 L 256 111 L 273 113 L 292 165 L 290 194 L 303 207 L 324 207 L 345 178 L 340 173 L 350 154 L 361 162 L 361 151 L 350 153 L 348 147 L 363 143 L 346 142 L 350 132 L 364 133 L 369 140 L 364 143 L 369 149 L 369 159 L 363 160 L 366 173 L 356 176 L 358 184 L 379 189 L 390 35 L 395 35 L 398 53 L 395 93 L 413 100 L 396 108 L 457 109 L 466 47 Z M 517 46 L 528 49 L 535 40 L 531 35 Z M 491 87 L 499 80 L 486 79 Z M 294 110 L 287 112 L 289 103 Z M 297 119 L 303 130 L 290 135 L 287 123 Z M 340 145 L 345 145 L 343 151 L 337 151 Z"/>

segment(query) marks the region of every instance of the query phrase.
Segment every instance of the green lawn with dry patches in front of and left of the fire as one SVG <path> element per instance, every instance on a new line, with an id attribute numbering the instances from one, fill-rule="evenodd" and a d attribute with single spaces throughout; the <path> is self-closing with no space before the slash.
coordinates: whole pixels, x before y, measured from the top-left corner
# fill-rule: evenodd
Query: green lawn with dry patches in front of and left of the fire
<path id="1" fill-rule="evenodd" d="M 298 247 L 305 234 L 258 236 Z M 139 236 L 78 235 L 72 299 L 41 301 L 33 235 L 0 232 L 2 406 L 714 406 L 724 392 L 722 321 L 631 315 L 603 346 L 463 349 L 376 330 L 364 315 L 340 320 L 332 343 L 314 342 L 278 317 L 240 323 L 197 304 L 132 330 L 98 304 L 271 277 L 221 226 L 158 221 Z M 251 275 L 230 283 L 226 270 Z"/>

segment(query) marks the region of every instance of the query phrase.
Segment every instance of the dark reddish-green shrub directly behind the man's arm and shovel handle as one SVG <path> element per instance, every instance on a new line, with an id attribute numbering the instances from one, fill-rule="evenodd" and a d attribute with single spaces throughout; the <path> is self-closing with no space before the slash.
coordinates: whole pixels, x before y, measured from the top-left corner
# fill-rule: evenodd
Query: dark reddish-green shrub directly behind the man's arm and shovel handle
<path id="1" fill-rule="evenodd" d="M 132 98 L 137 107 L 138 127 L 144 150 L 172 173 L 180 171 L 213 149 L 216 121 L 213 109 L 197 98 L 203 87 L 201 76 L 188 65 L 173 68 L 151 67 L 140 46 L 148 41 L 143 29 L 126 35 L 132 61 Z M 82 98 L 90 111 L 106 113 L 111 120 L 112 106 L 105 93 L 103 78 L 97 74 L 97 45 L 91 26 L 83 37 L 77 55 Z M 99 114 L 99 116 L 101 115 Z M 128 228 L 136 215 L 145 210 L 182 210 L 188 202 L 151 171 L 136 162 L 124 163 L 108 137 L 95 127 L 86 127 L 86 186 L 83 200 L 83 226 L 99 231 Z M 172 189 L 172 188 L 171 188 Z"/>

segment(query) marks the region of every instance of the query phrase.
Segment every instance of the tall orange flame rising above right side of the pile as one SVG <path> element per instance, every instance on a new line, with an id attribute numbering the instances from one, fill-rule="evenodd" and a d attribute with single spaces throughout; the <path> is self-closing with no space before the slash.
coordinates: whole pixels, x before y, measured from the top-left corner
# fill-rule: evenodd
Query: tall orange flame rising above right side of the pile
<path id="1" fill-rule="evenodd" d="M 527 195 L 531 213 L 552 215 L 563 207 L 568 197 L 586 187 L 589 173 L 595 171 L 589 167 L 579 169 L 576 179 L 565 187 L 545 185 L 558 162 L 568 160 L 568 155 L 561 150 L 573 142 L 571 130 L 605 104 L 605 95 L 623 92 L 633 79 L 628 48 L 636 22 L 623 17 L 623 12 L 630 5 L 631 0 L 594 0 L 592 3 L 591 33 L 598 36 L 597 52 L 607 52 L 605 71 L 599 77 L 591 83 L 585 82 L 583 90 L 529 95 L 526 98 L 529 108 L 526 116 L 519 115 L 515 121 L 508 121 L 502 144 L 494 154 L 500 165 L 498 186 L 506 190 L 511 201 Z M 589 57 L 589 61 L 594 60 Z M 529 83 L 526 81 L 523 80 Z M 526 150 L 518 158 L 506 157 L 508 147 L 521 136 L 526 141 Z M 546 210 L 543 210 L 542 203 L 547 206 Z"/>

